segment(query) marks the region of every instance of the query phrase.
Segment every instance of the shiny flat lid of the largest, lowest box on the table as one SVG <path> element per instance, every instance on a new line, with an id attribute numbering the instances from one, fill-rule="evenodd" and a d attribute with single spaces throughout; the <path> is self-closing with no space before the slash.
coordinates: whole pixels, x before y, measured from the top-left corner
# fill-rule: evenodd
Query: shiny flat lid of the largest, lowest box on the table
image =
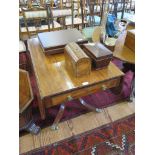
<path id="1" fill-rule="evenodd" d="M 77 29 L 59 30 L 53 32 L 39 33 L 38 38 L 43 48 L 56 48 L 65 46 L 70 42 L 87 41 L 86 38 Z"/>

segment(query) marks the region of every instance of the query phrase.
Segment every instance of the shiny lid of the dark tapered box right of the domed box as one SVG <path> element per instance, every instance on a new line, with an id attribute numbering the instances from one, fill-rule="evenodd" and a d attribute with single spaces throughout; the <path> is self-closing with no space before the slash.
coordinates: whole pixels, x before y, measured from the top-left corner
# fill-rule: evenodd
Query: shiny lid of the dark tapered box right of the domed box
<path id="1" fill-rule="evenodd" d="M 113 55 L 112 52 L 101 43 L 87 43 L 83 44 L 83 47 L 87 49 L 87 52 L 95 59 L 103 59 Z"/>

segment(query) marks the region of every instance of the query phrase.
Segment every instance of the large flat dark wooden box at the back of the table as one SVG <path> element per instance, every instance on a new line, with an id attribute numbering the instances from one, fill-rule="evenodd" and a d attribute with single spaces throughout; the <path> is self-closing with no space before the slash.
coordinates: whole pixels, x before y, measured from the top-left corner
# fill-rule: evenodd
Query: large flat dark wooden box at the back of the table
<path id="1" fill-rule="evenodd" d="M 39 33 L 38 39 L 45 54 L 63 53 L 64 47 L 70 42 L 79 45 L 88 42 L 77 29 Z"/>

